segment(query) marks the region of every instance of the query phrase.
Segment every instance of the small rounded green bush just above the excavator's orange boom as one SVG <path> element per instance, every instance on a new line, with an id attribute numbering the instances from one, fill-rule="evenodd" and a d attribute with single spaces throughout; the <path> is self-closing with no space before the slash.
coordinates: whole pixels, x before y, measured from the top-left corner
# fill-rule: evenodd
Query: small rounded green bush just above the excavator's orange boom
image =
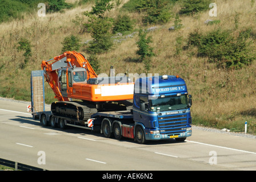
<path id="1" fill-rule="evenodd" d="M 66 51 L 79 51 L 81 44 L 79 43 L 80 39 L 77 36 L 71 35 L 67 36 L 62 42 L 62 52 Z"/>

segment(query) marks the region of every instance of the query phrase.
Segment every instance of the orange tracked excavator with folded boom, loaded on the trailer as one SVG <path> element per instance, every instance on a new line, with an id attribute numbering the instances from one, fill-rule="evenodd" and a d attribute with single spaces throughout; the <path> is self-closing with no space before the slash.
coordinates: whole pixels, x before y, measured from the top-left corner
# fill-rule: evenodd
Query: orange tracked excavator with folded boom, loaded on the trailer
<path id="1" fill-rule="evenodd" d="M 124 110 L 130 105 L 122 101 L 133 99 L 134 82 L 129 77 L 98 77 L 76 51 L 42 61 L 41 67 L 58 100 L 51 104 L 54 115 L 85 120 L 98 111 Z"/>

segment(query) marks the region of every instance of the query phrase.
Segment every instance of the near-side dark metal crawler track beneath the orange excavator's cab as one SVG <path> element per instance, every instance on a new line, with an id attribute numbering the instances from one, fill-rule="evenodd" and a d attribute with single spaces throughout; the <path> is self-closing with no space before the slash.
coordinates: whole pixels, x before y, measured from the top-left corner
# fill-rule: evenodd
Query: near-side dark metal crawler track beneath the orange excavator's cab
<path id="1" fill-rule="evenodd" d="M 86 121 L 97 113 L 95 105 L 86 102 L 61 101 L 51 104 L 51 112 L 55 116 Z"/>

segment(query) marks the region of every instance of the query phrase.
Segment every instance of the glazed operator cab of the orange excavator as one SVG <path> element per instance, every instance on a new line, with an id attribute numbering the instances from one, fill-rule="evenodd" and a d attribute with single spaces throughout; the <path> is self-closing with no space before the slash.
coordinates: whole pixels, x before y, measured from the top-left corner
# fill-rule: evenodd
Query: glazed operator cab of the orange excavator
<path id="1" fill-rule="evenodd" d="M 59 86 L 63 97 L 67 97 L 67 85 L 72 87 L 75 82 L 87 82 L 85 68 L 62 68 L 59 76 Z"/>

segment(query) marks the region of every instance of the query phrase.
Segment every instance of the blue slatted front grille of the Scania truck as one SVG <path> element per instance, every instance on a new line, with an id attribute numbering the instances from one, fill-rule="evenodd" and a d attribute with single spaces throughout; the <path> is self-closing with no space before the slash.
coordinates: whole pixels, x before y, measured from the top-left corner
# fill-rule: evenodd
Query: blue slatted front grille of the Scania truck
<path id="1" fill-rule="evenodd" d="M 158 116 L 158 123 L 161 134 L 178 134 L 186 131 L 187 115 Z"/>

